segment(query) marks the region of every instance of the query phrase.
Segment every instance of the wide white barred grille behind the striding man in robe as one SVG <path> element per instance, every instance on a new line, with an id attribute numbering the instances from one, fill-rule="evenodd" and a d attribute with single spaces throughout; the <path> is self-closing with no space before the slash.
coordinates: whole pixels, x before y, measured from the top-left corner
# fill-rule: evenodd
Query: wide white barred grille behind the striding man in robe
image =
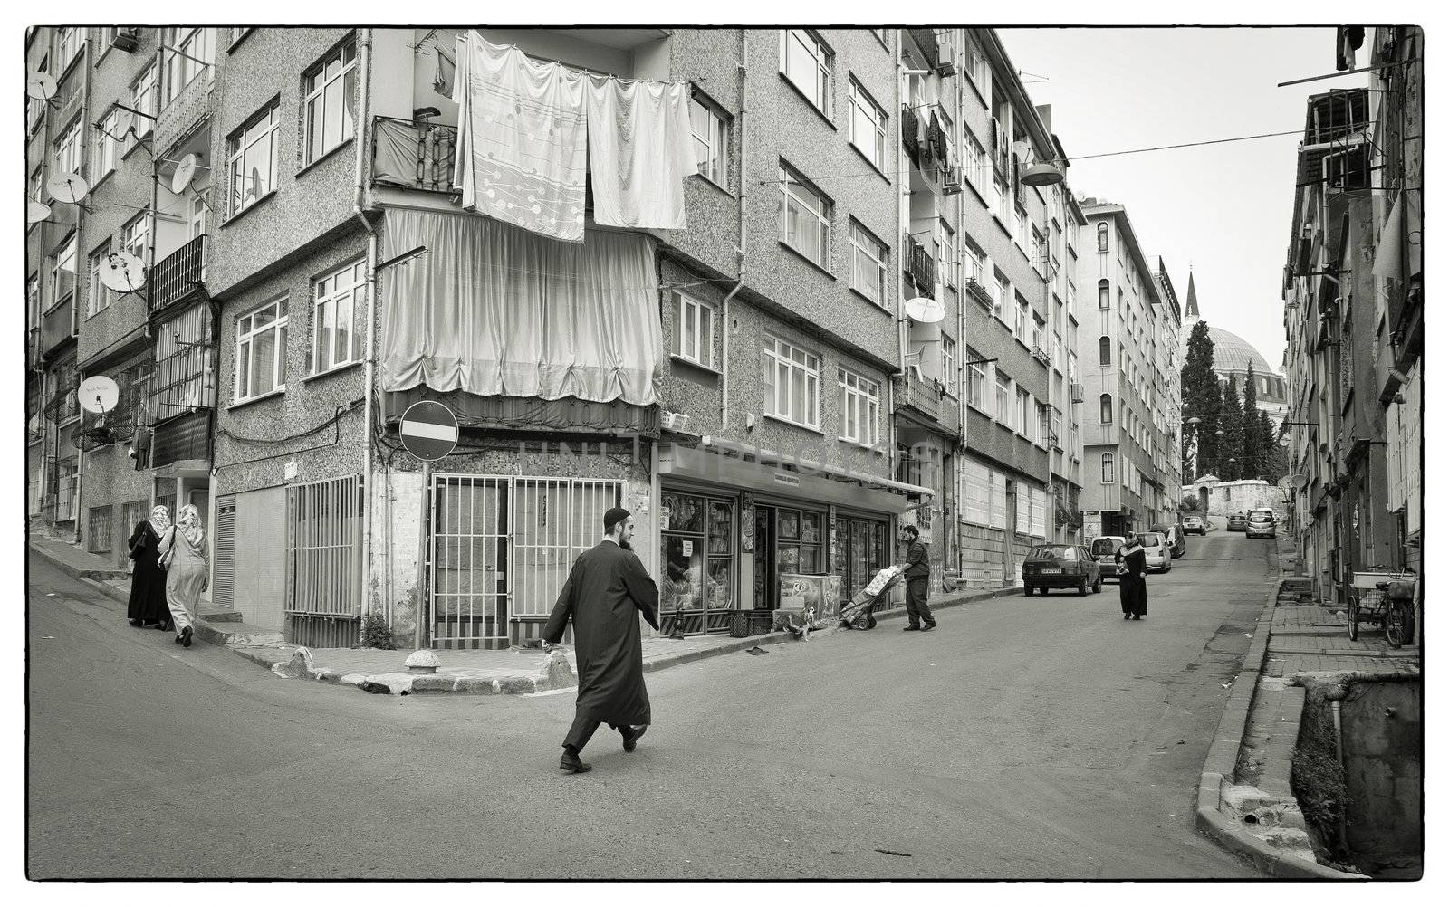
<path id="1" fill-rule="evenodd" d="M 614 480 L 433 475 L 433 646 L 520 642 L 513 619 L 548 616 L 574 558 L 598 542 L 604 511 L 622 496 Z"/>

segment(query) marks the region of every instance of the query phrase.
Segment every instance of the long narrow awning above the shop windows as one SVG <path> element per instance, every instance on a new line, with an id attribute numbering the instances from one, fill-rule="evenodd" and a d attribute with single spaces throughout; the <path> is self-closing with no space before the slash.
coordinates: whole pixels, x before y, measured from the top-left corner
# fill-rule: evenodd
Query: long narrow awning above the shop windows
<path id="1" fill-rule="evenodd" d="M 882 513 L 904 513 L 929 503 L 933 496 L 924 485 L 898 482 L 709 436 L 698 448 L 681 445 L 661 448 L 659 474 Z"/>

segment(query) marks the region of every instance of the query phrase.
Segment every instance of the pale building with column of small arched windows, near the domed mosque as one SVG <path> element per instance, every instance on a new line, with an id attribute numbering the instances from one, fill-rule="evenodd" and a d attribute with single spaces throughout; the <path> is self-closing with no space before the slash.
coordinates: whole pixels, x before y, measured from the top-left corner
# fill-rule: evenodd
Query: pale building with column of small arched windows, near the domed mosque
<path id="1" fill-rule="evenodd" d="M 1082 326 L 1085 397 L 1082 438 L 1087 538 L 1140 532 L 1165 519 L 1161 411 L 1169 394 L 1161 374 L 1162 293 L 1122 204 L 1082 200 L 1090 252 L 1080 283 L 1097 304 Z M 1095 317 L 1091 317 L 1091 312 Z M 1172 416 L 1177 416 L 1174 413 Z"/>

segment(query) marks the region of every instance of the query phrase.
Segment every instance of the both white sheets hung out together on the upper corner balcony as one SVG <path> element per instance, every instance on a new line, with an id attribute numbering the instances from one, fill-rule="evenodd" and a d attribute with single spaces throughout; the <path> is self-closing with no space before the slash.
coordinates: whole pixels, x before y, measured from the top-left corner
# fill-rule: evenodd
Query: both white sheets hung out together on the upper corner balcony
<path id="1" fill-rule="evenodd" d="M 584 172 L 604 226 L 684 229 L 684 178 L 697 172 L 684 83 L 591 75 L 516 46 L 458 38 L 462 206 L 526 230 L 584 238 Z"/>

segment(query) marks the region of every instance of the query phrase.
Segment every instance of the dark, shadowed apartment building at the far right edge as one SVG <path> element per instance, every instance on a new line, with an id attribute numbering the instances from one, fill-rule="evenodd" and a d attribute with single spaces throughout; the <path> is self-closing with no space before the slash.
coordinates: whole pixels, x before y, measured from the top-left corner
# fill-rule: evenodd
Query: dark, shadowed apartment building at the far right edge
<path id="1" fill-rule="evenodd" d="M 1353 571 L 1421 565 L 1423 33 L 1368 42 L 1371 88 L 1308 97 L 1284 269 L 1294 530 L 1339 601 Z"/>

